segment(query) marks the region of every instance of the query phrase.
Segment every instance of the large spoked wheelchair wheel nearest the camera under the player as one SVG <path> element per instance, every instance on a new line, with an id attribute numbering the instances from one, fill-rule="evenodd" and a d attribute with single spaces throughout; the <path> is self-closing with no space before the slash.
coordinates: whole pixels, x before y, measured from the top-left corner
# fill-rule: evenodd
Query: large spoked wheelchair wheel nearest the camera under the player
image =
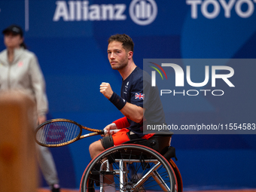
<path id="1" fill-rule="evenodd" d="M 113 182 L 114 181 L 114 182 Z M 81 178 L 81 192 L 177 191 L 177 178 L 169 162 L 142 145 L 118 145 L 95 157 Z"/>

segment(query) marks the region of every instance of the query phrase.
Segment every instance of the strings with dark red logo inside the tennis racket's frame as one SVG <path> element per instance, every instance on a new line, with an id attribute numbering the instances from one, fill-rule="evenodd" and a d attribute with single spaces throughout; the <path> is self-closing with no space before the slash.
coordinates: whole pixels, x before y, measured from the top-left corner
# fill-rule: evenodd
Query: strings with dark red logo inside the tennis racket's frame
<path id="1" fill-rule="evenodd" d="M 59 145 L 77 139 L 80 131 L 75 123 L 56 121 L 41 126 L 36 133 L 36 139 L 44 145 Z"/>

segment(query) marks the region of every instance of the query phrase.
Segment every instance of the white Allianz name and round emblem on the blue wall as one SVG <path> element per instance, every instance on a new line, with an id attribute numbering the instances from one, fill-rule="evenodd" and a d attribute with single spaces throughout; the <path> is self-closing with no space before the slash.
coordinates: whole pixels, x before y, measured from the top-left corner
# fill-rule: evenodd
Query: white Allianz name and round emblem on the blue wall
<path id="1" fill-rule="evenodd" d="M 125 11 L 125 4 L 90 5 L 89 1 L 56 1 L 53 21 L 126 20 Z M 129 14 L 134 23 L 148 25 L 157 17 L 157 4 L 154 0 L 133 0 Z"/>

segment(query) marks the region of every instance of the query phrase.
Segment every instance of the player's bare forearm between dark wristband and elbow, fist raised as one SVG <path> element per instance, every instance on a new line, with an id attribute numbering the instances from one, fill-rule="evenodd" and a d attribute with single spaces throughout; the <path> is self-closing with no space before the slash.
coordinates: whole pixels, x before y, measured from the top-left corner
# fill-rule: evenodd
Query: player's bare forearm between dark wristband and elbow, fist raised
<path id="1" fill-rule="evenodd" d="M 120 110 L 121 113 L 128 119 L 139 123 L 143 118 L 143 108 L 137 105 L 133 105 L 130 102 L 126 102 L 126 105 Z"/>

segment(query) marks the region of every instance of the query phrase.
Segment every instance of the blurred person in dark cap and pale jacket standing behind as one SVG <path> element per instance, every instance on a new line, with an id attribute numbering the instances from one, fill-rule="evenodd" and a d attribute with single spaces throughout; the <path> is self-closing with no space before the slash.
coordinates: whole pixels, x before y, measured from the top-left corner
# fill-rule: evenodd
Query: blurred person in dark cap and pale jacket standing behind
<path id="1" fill-rule="evenodd" d="M 35 99 L 37 122 L 47 120 L 48 102 L 44 76 L 34 53 L 26 49 L 23 30 L 11 25 L 3 30 L 5 50 L 0 53 L 0 91 L 21 90 Z M 59 178 L 53 156 L 48 148 L 37 145 L 38 163 L 52 192 L 59 192 Z"/>

